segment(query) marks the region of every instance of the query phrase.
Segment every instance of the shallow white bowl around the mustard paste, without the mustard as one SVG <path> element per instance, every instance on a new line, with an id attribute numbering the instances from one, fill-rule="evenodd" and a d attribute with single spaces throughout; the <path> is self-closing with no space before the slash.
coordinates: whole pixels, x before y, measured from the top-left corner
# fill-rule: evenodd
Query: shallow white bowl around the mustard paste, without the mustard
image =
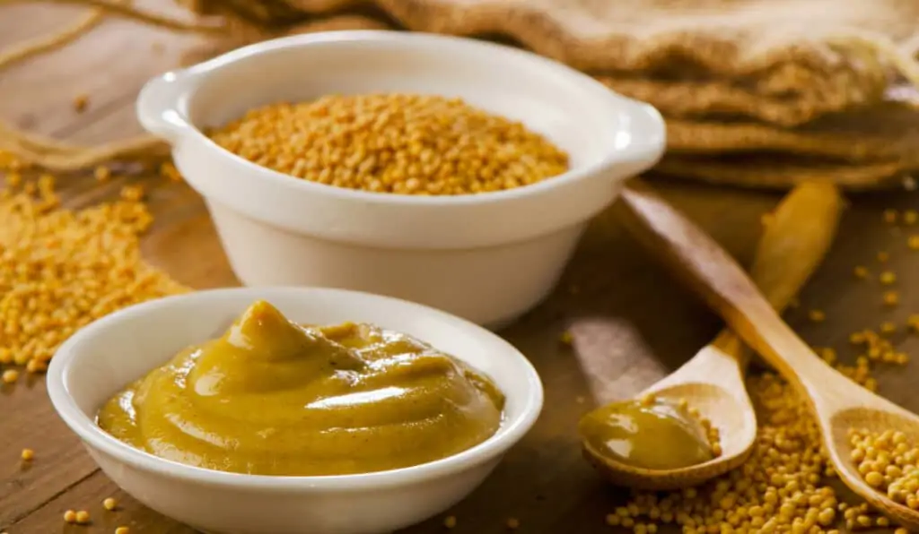
<path id="1" fill-rule="evenodd" d="M 490 439 L 444 460 L 380 473 L 255 476 L 210 471 L 138 451 L 96 426 L 98 408 L 187 345 L 210 339 L 256 299 L 298 322 L 371 322 L 423 339 L 488 374 L 506 395 Z M 542 385 L 514 347 L 459 317 L 402 300 L 335 289 L 237 288 L 131 306 L 79 330 L 48 371 L 51 402 L 99 467 L 168 517 L 228 534 L 378 534 L 459 502 L 539 416 Z"/>

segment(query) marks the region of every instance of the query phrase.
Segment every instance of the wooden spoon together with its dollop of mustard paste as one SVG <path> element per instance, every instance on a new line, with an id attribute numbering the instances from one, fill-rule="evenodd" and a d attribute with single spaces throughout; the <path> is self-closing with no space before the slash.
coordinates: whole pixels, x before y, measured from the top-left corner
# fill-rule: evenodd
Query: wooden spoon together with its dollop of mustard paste
<path id="1" fill-rule="evenodd" d="M 776 309 L 789 305 L 823 260 L 842 205 L 833 185 L 802 184 L 766 217 L 751 274 Z M 737 467 L 756 439 L 745 350 L 725 329 L 638 400 L 586 414 L 578 425 L 584 456 L 614 484 L 650 490 L 702 484 Z M 718 429 L 714 451 L 703 419 Z"/>

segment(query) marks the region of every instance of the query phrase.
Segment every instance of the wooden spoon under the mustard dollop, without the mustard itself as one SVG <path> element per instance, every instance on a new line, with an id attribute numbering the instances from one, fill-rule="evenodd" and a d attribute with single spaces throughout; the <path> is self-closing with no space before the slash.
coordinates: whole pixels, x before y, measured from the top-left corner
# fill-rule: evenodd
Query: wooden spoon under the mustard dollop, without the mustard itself
<path id="1" fill-rule="evenodd" d="M 788 306 L 823 260 L 841 208 L 842 197 L 833 185 L 802 184 L 766 218 L 751 273 L 776 309 Z M 756 414 L 743 383 L 744 352 L 737 336 L 725 329 L 675 373 L 638 395 L 672 403 L 686 399 L 719 429 L 719 457 L 681 469 L 643 469 L 608 457 L 586 439 L 584 456 L 614 484 L 649 490 L 702 484 L 737 467 L 756 440 Z"/>

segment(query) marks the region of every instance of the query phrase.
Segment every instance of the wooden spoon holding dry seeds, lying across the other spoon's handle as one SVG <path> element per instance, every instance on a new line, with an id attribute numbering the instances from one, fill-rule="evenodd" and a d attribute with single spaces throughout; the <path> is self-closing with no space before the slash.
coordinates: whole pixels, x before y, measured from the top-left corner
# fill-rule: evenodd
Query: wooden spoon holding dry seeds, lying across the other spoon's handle
<path id="1" fill-rule="evenodd" d="M 809 399 L 830 461 L 845 485 L 903 527 L 919 528 L 919 513 L 869 486 L 850 460 L 850 428 L 900 430 L 919 442 L 919 417 L 860 387 L 823 362 L 778 317 L 743 269 L 702 230 L 642 184 L 622 195 L 630 229 L 661 255 L 744 342 Z"/>

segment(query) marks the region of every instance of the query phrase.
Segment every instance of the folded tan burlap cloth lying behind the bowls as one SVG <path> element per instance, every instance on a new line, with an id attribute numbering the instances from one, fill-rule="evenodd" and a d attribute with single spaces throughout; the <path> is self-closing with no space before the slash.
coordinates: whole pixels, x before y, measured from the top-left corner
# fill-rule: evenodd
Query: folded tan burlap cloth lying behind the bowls
<path id="1" fill-rule="evenodd" d="M 787 187 L 817 173 L 872 188 L 919 166 L 913 98 L 890 93 L 919 83 L 919 0 L 176 2 L 232 23 L 187 62 L 329 29 L 509 39 L 657 106 L 667 174 Z"/>

